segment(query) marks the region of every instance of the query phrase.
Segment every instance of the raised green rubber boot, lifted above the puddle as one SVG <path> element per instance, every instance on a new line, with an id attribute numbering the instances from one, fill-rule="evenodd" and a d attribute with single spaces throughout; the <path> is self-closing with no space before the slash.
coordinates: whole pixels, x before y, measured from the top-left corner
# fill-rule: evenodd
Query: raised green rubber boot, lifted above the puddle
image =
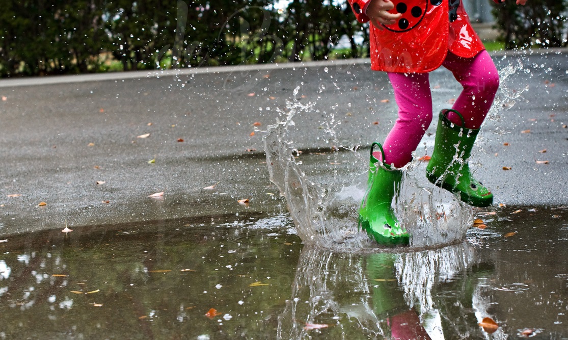
<path id="1" fill-rule="evenodd" d="M 462 126 L 457 126 L 446 117 L 449 112 L 457 114 Z M 426 167 L 426 177 L 434 185 L 460 195 L 460 199 L 473 206 L 490 206 L 493 194 L 475 180 L 467 161 L 479 129 L 465 128 L 462 115 L 456 110 L 440 111 L 436 130 L 436 142 L 432 159 Z"/>

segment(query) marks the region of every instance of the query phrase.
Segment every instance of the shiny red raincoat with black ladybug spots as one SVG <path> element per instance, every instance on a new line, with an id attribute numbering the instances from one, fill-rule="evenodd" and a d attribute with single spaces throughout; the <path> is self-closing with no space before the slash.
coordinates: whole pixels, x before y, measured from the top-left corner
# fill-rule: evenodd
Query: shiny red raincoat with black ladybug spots
<path id="1" fill-rule="evenodd" d="M 357 20 L 368 22 L 365 10 L 371 0 L 348 1 Z M 460 0 L 391 1 L 390 13 L 402 13 L 402 18 L 383 30 L 370 25 L 374 71 L 425 73 L 440 67 L 448 51 L 471 58 L 485 49 Z"/>

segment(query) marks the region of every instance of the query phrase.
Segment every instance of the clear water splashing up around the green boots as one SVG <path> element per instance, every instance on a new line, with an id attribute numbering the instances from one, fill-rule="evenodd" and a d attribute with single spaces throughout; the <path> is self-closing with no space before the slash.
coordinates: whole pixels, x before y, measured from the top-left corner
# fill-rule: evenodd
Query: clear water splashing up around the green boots
<path id="1" fill-rule="evenodd" d="M 356 147 L 337 147 L 342 151 L 336 151 L 335 157 L 341 157 L 342 163 L 333 164 L 352 164 L 353 169 L 349 176 L 337 175 L 337 169 L 332 169 L 333 178 L 327 184 L 314 183 L 302 171 L 302 162 L 295 160 L 298 150 L 291 140 L 295 115 L 314 110 L 313 103 L 303 105 L 296 99 L 298 91 L 299 87 L 294 90 L 293 101 L 286 102 L 287 111 L 276 109 L 280 118 L 264 131 L 264 143 L 270 180 L 286 197 L 299 237 L 306 244 L 336 250 L 379 247 L 357 226 L 358 208 L 366 189 L 368 156 L 353 151 Z M 333 121 L 324 132 L 339 145 Z M 401 194 L 394 205 L 396 216 L 412 235 L 411 247 L 462 240 L 473 221 L 473 210 L 453 194 L 429 184 L 424 164 L 417 157 L 414 159 L 406 166 Z"/>

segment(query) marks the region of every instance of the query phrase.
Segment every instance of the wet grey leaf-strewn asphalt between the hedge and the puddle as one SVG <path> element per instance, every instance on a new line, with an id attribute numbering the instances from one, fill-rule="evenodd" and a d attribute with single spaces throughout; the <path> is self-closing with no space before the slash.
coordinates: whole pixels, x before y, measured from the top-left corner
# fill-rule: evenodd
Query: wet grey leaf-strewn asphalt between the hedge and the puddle
<path id="1" fill-rule="evenodd" d="M 494 61 L 500 92 L 472 162 L 494 192 L 490 209 L 567 205 L 568 53 Z M 430 80 L 434 111 L 449 107 L 460 85 L 443 68 Z M 396 119 L 386 74 L 369 60 L 0 80 L 0 239 L 65 221 L 286 212 L 261 131 L 295 88 L 312 105 L 291 133 L 300 157 L 382 141 Z M 429 152 L 436 122 L 424 137 Z M 330 125 L 335 140 L 322 137 Z"/>

